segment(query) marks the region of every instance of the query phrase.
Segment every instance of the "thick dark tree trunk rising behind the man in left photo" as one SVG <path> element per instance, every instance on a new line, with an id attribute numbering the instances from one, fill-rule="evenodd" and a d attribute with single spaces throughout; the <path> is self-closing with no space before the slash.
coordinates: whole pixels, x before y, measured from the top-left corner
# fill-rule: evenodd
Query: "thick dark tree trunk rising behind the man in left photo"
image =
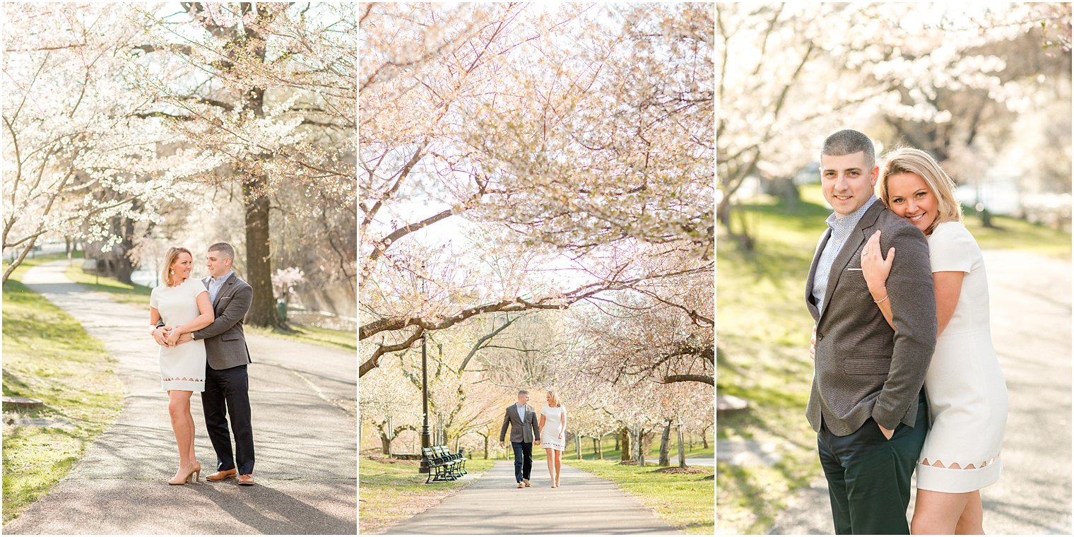
<path id="1" fill-rule="evenodd" d="M 243 185 L 246 202 L 246 281 L 253 288 L 253 302 L 246 322 L 256 326 L 279 326 L 272 289 L 272 259 L 268 246 L 268 198 L 259 192 L 267 177 Z"/>

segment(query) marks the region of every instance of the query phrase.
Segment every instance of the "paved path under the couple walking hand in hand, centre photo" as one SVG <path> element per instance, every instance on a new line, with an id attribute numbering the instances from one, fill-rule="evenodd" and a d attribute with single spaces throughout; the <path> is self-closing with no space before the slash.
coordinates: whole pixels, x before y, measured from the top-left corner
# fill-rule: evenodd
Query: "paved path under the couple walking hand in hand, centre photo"
<path id="1" fill-rule="evenodd" d="M 552 489 L 549 487 L 548 466 L 535 463 L 533 487 L 517 489 L 514 463 L 497 462 L 480 479 L 454 496 L 380 533 L 680 533 L 611 481 L 566 463 L 562 471 L 562 487 Z"/>

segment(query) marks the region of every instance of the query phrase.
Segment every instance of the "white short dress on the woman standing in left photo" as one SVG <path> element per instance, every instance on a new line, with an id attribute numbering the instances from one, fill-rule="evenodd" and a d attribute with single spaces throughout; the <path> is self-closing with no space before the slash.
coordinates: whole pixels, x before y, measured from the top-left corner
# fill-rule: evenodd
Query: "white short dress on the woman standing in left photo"
<path id="1" fill-rule="evenodd" d="M 200 315 L 198 295 L 208 292 L 198 278 L 176 287 L 161 285 L 149 293 L 149 305 L 160 311 L 164 324 L 190 322 Z M 160 346 L 160 387 L 168 390 L 205 391 L 205 342 L 194 339 L 175 347 Z"/>

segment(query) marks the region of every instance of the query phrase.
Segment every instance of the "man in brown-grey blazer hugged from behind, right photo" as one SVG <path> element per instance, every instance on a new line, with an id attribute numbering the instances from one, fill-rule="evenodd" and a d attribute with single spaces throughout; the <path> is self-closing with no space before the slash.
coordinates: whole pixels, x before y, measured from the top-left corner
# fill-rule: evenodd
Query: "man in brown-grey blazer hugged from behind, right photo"
<path id="1" fill-rule="evenodd" d="M 928 427 L 921 387 L 935 346 L 928 243 L 875 195 L 872 141 L 841 130 L 821 150 L 828 217 L 806 284 L 815 364 L 806 413 L 831 499 L 837 534 L 910 534 L 910 476 Z M 861 248 L 881 231 L 895 248 L 888 296 L 874 302 L 861 275 Z M 890 253 L 889 253 L 890 255 Z M 877 303 L 890 301 L 895 325 Z"/>

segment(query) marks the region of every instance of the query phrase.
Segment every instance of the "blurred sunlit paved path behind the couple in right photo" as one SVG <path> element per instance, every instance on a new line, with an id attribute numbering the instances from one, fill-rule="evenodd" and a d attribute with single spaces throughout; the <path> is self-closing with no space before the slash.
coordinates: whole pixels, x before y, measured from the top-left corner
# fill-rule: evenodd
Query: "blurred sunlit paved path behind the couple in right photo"
<path id="1" fill-rule="evenodd" d="M 1006 377 L 1003 474 L 981 491 L 988 534 L 1071 533 L 1071 263 L 985 251 L 992 344 Z M 821 473 L 770 533 L 831 534 Z M 908 520 L 913 516 L 911 498 Z"/>

